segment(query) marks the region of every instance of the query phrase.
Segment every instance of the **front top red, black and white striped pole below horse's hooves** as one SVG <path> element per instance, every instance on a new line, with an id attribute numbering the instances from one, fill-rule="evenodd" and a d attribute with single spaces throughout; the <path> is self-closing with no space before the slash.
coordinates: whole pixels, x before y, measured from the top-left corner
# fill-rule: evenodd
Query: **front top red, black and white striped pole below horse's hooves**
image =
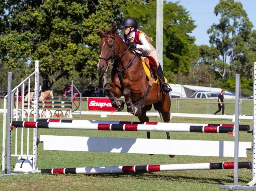
<path id="1" fill-rule="evenodd" d="M 45 129 L 83 129 L 103 131 L 162 131 L 162 132 L 194 132 L 194 133 L 228 133 L 234 127 L 222 126 L 191 126 L 191 124 L 84 124 L 13 121 L 14 127 L 45 128 Z"/>

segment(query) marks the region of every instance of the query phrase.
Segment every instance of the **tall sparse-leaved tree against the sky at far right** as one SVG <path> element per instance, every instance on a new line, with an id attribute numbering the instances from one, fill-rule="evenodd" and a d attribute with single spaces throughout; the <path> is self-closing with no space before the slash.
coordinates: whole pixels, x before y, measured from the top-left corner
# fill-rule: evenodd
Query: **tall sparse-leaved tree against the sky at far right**
<path id="1" fill-rule="evenodd" d="M 227 75 L 231 77 L 234 71 L 240 71 L 248 76 L 248 71 L 241 71 L 241 68 L 249 66 L 248 59 L 242 58 L 242 54 L 248 55 L 248 42 L 251 36 L 252 23 L 243 5 L 234 0 L 220 0 L 215 6 L 214 13 L 220 16 L 219 24 L 211 25 L 208 29 L 210 43 L 219 51 L 222 63 L 218 62 L 215 67 L 224 79 Z M 245 49 L 245 51 L 243 51 Z M 228 62 L 229 60 L 229 62 Z"/>

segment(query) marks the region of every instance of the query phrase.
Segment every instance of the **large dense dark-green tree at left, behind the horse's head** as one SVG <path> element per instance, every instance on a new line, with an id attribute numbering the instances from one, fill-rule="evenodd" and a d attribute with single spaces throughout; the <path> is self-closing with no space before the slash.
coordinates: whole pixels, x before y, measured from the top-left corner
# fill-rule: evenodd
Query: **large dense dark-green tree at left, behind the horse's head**
<path id="1" fill-rule="evenodd" d="M 52 84 L 76 71 L 98 76 L 98 27 L 121 21 L 120 8 L 137 0 L 4 1 L 0 5 L 0 60 L 9 70 L 33 70 L 40 60 Z M 29 72 L 28 72 L 29 73 Z"/>

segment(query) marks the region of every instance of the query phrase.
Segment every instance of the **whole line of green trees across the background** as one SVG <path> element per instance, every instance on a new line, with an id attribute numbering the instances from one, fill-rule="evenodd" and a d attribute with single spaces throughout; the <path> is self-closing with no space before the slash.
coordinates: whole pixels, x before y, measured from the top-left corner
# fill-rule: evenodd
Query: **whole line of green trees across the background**
<path id="1" fill-rule="evenodd" d="M 137 7 L 137 8 L 134 8 Z M 138 8 L 139 7 L 139 8 Z M 242 86 L 252 88 L 256 60 L 256 31 L 240 2 L 219 0 L 214 9 L 219 22 L 206 31 L 210 46 L 196 45 L 196 28 L 189 12 L 178 2 L 164 2 L 163 66 L 169 82 L 226 86 L 234 75 Z M 126 16 L 152 36 L 155 46 L 156 1 L 153 0 L 24 0 L 0 4 L 0 82 L 7 87 L 7 71 L 14 82 L 33 71 L 40 60 L 41 76 L 49 76 L 52 88 L 74 80 L 83 87 L 95 82 L 102 87 L 109 73 L 97 70 L 100 50 L 98 28 L 119 27 Z M 120 35 L 122 30 L 120 29 Z M 71 79 L 72 78 L 72 79 Z"/>

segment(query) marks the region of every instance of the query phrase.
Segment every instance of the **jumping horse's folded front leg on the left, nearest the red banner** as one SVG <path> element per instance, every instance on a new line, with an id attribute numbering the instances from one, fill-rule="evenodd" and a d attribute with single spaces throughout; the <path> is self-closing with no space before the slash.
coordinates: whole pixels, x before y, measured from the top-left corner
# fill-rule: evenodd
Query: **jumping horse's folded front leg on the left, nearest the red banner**
<path id="1" fill-rule="evenodd" d="M 121 97 L 121 91 L 115 87 L 114 83 L 107 83 L 104 86 L 106 93 L 111 101 L 112 107 L 115 107 L 118 111 L 122 111 L 124 109 L 124 102 L 122 100 L 117 100 L 116 97 Z"/>

